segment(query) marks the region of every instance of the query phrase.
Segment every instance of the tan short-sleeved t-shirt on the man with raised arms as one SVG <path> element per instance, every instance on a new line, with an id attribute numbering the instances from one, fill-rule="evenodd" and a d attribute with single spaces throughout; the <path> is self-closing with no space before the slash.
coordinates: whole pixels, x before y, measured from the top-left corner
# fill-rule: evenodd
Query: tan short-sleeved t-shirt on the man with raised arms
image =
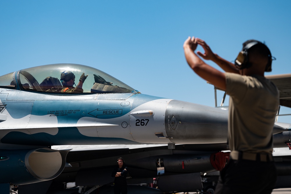
<path id="1" fill-rule="evenodd" d="M 225 73 L 230 95 L 228 141 L 231 151 L 273 152 L 273 126 L 279 91 L 268 79 Z"/>

